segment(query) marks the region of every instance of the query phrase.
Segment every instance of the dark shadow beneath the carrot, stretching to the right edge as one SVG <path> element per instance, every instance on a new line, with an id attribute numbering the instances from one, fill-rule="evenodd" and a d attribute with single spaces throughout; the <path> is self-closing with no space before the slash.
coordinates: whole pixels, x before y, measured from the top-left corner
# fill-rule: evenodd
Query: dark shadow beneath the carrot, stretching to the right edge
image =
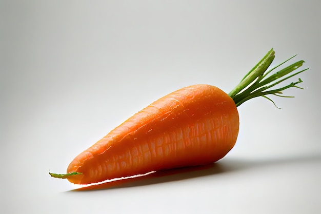
<path id="1" fill-rule="evenodd" d="M 306 163 L 306 162 L 321 162 L 321 155 L 309 155 L 302 157 L 284 157 L 269 160 L 237 160 L 224 159 L 216 163 L 205 166 L 184 167 L 177 169 L 169 169 L 163 171 L 151 172 L 143 176 L 134 178 L 124 178 L 119 180 L 108 181 L 105 183 L 94 184 L 77 189 L 76 191 L 94 191 L 115 188 L 129 188 L 136 186 L 146 186 L 166 182 L 174 182 L 186 179 L 193 179 L 205 176 L 212 176 L 214 174 L 222 174 L 235 171 L 243 171 L 257 167 L 268 167 L 273 165 L 284 165 L 292 163 Z"/>

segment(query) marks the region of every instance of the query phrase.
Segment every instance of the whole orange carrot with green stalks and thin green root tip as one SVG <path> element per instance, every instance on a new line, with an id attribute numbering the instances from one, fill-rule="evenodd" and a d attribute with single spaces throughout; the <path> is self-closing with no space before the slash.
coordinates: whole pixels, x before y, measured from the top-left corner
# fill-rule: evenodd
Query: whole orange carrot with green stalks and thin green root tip
<path id="1" fill-rule="evenodd" d="M 267 95 L 288 98 L 284 90 L 300 88 L 301 79 L 275 87 L 307 69 L 296 71 L 304 63 L 298 61 L 274 72 L 293 56 L 268 70 L 274 53 L 271 49 L 229 94 L 200 84 L 160 98 L 79 154 L 66 174 L 50 176 L 91 184 L 222 159 L 236 143 L 239 105 L 258 96 L 274 104 Z"/>

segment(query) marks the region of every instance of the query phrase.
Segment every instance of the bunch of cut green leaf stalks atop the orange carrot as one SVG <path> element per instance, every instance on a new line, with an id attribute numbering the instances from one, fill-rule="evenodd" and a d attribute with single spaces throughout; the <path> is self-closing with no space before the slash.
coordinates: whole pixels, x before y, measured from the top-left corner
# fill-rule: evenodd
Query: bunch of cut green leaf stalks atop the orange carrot
<path id="1" fill-rule="evenodd" d="M 263 98 L 268 99 L 275 105 L 273 100 L 268 98 L 267 95 L 273 94 L 273 95 L 282 96 L 285 98 L 292 98 L 293 96 L 281 95 L 283 94 L 282 91 L 291 87 L 300 88 L 296 85 L 299 83 L 302 83 L 303 81 L 301 79 L 298 79 L 297 82 L 292 82 L 289 85 L 286 85 L 284 87 L 271 89 L 272 87 L 278 85 L 279 83 L 282 83 L 283 81 L 288 80 L 289 78 L 308 70 L 307 68 L 307 69 L 303 69 L 295 73 L 292 73 L 291 75 L 288 75 L 292 71 L 296 70 L 297 68 L 303 65 L 304 61 L 301 60 L 268 76 L 269 73 L 271 73 L 276 68 L 285 64 L 286 62 L 288 62 L 294 57 L 292 56 L 290 59 L 286 60 L 285 62 L 267 71 L 267 69 L 269 68 L 269 66 L 274 60 L 274 53 L 275 53 L 274 50 L 271 49 L 263 57 L 263 59 L 257 65 L 255 65 L 254 68 L 250 70 L 250 72 L 247 75 L 245 75 L 242 81 L 229 93 L 229 96 L 234 100 L 236 106 L 239 106 L 242 103 L 252 98 L 256 98 L 258 96 L 262 96 Z M 300 88 L 300 89 L 303 89 L 303 88 Z"/>

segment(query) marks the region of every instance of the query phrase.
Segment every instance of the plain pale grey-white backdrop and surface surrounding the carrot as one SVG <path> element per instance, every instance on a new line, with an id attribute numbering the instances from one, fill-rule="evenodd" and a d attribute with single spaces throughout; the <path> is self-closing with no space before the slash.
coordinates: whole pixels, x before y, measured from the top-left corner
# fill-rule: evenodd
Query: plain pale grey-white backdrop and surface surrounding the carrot
<path id="1" fill-rule="evenodd" d="M 1 213 L 320 213 L 320 1 L 1 1 Z M 310 69 L 238 108 L 233 150 L 205 168 L 92 191 L 81 151 L 173 90 L 229 92 L 271 49 Z M 293 79 L 296 81 L 297 77 Z"/>

